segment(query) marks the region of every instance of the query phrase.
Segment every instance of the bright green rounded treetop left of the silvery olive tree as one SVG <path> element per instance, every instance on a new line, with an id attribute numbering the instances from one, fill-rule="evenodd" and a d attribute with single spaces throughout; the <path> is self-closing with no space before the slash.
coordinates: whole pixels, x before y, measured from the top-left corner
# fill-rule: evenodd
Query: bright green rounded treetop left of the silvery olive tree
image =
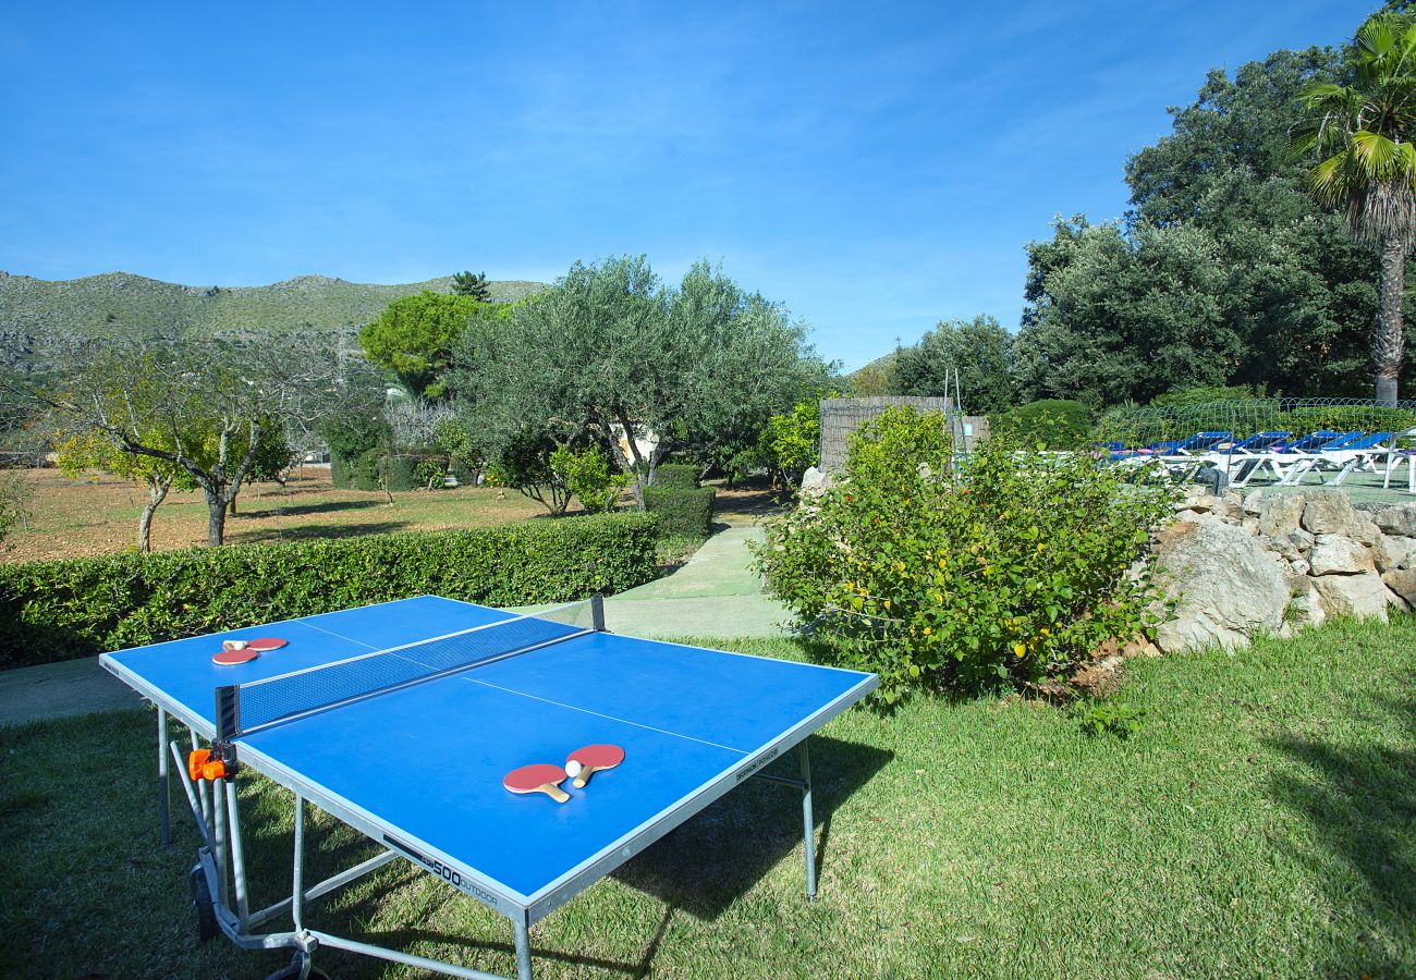
<path id="1" fill-rule="evenodd" d="M 398 378 L 419 398 L 440 398 L 453 347 L 472 331 L 481 334 L 507 316 L 507 307 L 474 296 L 422 292 L 404 296 L 360 330 L 368 360 Z"/>

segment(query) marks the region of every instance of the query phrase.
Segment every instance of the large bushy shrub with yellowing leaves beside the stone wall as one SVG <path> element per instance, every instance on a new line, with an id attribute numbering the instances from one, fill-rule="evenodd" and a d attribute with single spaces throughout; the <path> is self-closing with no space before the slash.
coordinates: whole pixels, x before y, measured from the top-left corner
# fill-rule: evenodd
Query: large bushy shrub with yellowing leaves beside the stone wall
<path id="1" fill-rule="evenodd" d="M 1054 677 L 1153 626 L 1146 545 L 1170 491 L 1000 436 L 953 476 L 947 462 L 937 416 L 891 409 L 851 438 L 845 477 L 758 548 L 767 591 L 833 659 L 878 673 L 886 702 Z"/>

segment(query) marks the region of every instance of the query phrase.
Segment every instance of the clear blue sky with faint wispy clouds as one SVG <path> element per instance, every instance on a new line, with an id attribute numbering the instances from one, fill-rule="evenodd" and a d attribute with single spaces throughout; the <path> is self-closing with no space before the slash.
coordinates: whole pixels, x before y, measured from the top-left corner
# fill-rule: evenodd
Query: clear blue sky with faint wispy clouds
<path id="1" fill-rule="evenodd" d="M 188 285 L 708 256 L 848 368 L 1015 329 L 1211 68 L 1372 3 L 40 4 L 0 17 L 0 269 Z"/>

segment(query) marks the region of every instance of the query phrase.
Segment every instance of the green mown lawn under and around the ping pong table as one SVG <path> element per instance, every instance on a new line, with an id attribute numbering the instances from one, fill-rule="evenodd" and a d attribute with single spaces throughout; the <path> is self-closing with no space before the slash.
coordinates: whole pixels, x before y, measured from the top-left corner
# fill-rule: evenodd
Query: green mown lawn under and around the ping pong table
<path id="1" fill-rule="evenodd" d="M 848 712 L 813 749 L 817 902 L 799 796 L 749 783 L 532 929 L 537 976 L 1416 976 L 1413 677 L 1402 617 L 1133 661 L 1116 697 L 1148 715 L 1130 741 L 1017 700 Z M 259 977 L 286 960 L 195 945 L 195 833 L 180 816 L 157 845 L 149 714 L 4 729 L 0 752 L 3 972 Z M 241 790 L 263 905 L 287 887 L 289 810 L 263 780 Z M 313 874 L 374 853 L 323 816 L 310 845 Z M 405 862 L 310 919 L 514 973 L 510 925 Z"/>

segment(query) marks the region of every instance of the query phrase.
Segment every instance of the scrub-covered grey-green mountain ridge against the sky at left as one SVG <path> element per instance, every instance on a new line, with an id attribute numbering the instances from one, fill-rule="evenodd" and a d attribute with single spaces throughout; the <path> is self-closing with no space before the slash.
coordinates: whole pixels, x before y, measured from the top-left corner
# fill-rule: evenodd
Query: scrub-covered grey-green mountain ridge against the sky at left
<path id="1" fill-rule="evenodd" d="M 491 299 L 511 302 L 545 289 L 493 282 Z M 378 317 L 392 300 L 422 290 L 452 292 L 452 276 L 399 286 L 299 276 L 270 286 L 180 286 L 105 272 L 50 282 L 0 272 L 0 338 L 47 333 L 85 336 L 251 338 L 262 333 L 344 334 Z"/>

